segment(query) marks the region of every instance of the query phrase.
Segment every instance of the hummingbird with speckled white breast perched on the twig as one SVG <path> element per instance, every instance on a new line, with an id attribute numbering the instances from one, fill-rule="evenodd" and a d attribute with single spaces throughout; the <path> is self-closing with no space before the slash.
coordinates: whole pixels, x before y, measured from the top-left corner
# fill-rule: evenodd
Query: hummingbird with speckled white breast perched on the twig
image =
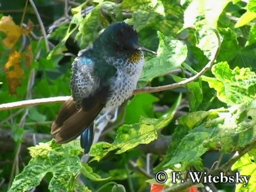
<path id="1" fill-rule="evenodd" d="M 64 144 L 79 135 L 84 153 L 94 138 L 93 122 L 100 112 L 110 112 L 132 96 L 144 66 L 138 33 L 125 22 L 108 26 L 72 63 L 71 92 L 56 120 L 51 134 Z"/>

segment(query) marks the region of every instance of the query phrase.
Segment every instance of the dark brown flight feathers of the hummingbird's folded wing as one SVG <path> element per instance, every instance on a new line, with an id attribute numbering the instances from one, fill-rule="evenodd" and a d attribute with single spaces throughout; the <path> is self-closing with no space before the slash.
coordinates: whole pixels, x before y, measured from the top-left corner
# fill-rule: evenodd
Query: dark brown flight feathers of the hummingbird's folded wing
<path id="1" fill-rule="evenodd" d="M 53 123 L 52 126 L 54 126 L 54 128 L 57 127 L 55 124 L 61 124 L 61 127 L 54 129 L 54 131 L 52 130 L 52 132 L 57 133 L 56 142 L 58 144 L 63 144 L 70 142 L 74 138 L 78 137 L 85 128 L 92 124 L 96 116 L 100 113 L 106 104 L 107 97 L 108 87 L 102 87 L 98 92 L 94 94 L 94 96 L 84 98 L 82 102 L 82 109 L 79 111 L 76 110 L 73 112 L 73 105 L 65 105 L 71 107 L 71 110 L 64 110 L 62 107 L 63 112 L 67 111 L 69 115 L 71 112 L 73 113 L 68 118 L 66 118 L 67 116 L 60 115 L 62 118 L 58 120 L 57 117 L 55 121 L 56 123 Z"/>

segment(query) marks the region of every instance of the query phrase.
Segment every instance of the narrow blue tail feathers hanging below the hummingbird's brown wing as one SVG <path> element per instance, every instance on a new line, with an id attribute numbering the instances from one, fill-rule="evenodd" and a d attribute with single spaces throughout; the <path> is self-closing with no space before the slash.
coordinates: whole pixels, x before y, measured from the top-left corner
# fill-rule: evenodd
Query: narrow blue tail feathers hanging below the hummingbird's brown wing
<path id="1" fill-rule="evenodd" d="M 91 149 L 94 138 L 94 123 L 86 128 L 80 137 L 80 145 L 84 149 L 84 154 L 88 153 Z"/>

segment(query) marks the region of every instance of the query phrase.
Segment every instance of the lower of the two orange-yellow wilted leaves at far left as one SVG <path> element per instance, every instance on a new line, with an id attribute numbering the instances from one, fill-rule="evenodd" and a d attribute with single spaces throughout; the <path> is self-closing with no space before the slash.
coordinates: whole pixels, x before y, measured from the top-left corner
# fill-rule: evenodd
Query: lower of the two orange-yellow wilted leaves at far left
<path id="1" fill-rule="evenodd" d="M 20 57 L 21 53 L 12 51 L 9 59 L 4 65 L 6 71 L 6 79 L 9 85 L 10 94 L 16 94 L 16 88 L 22 85 L 20 78 L 24 76 L 24 72 L 21 68 Z"/>

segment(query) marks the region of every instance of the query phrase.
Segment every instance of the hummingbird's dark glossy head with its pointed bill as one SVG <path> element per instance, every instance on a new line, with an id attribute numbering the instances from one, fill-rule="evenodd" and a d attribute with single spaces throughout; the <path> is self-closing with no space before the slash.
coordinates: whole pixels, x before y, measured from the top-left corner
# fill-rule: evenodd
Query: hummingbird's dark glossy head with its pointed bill
<path id="1" fill-rule="evenodd" d="M 156 52 L 140 46 L 136 30 L 125 22 L 118 22 L 108 26 L 100 38 L 104 50 L 110 56 L 132 56 L 138 51 L 156 54 Z"/>

